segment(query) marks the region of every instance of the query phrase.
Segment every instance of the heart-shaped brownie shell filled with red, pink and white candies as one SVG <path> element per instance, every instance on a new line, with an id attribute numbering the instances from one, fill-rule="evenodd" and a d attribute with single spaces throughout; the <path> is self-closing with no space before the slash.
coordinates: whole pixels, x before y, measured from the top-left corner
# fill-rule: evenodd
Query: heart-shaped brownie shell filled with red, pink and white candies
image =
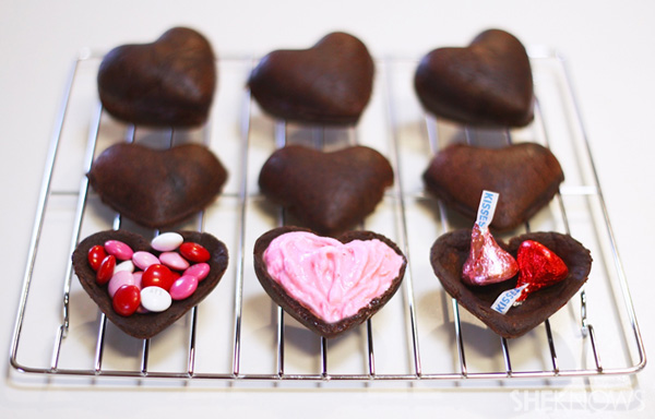
<path id="1" fill-rule="evenodd" d="M 205 232 L 169 231 L 152 241 L 126 230 L 84 239 L 73 252 L 80 284 L 123 332 L 148 338 L 202 301 L 228 263 L 227 248 Z"/>

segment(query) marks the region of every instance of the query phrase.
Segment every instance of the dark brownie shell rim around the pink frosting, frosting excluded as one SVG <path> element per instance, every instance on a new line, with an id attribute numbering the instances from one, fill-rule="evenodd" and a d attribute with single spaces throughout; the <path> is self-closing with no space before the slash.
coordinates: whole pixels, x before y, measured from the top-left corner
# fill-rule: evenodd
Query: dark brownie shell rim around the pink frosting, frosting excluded
<path id="1" fill-rule="evenodd" d="M 269 296 L 275 301 L 278 306 L 281 306 L 287 313 L 298 320 L 301 324 L 303 324 L 307 328 L 315 332 L 317 334 L 324 337 L 334 337 L 349 328 L 355 327 L 356 325 L 362 323 L 370 316 L 372 316 L 378 310 L 380 310 L 395 294 L 395 291 L 401 286 L 401 282 L 403 280 L 403 276 L 405 275 L 405 267 L 407 265 L 407 260 L 403 252 L 398 249 L 398 247 L 382 235 L 378 235 L 372 231 L 348 231 L 343 236 L 336 238 L 342 243 L 347 243 L 353 240 L 372 240 L 378 239 L 389 246 L 393 251 L 403 258 L 403 264 L 398 272 L 398 276 L 393 279 L 391 286 L 386 289 L 386 291 L 380 297 L 374 298 L 367 304 L 361 308 L 355 315 L 343 319 L 335 323 L 326 323 L 322 319 L 318 318 L 314 313 L 308 310 L 305 306 L 302 306 L 299 301 L 289 296 L 285 289 L 278 285 L 272 277 L 269 275 L 266 264 L 263 259 L 264 251 L 271 244 L 276 237 L 284 235 L 290 231 L 310 231 L 305 228 L 299 227 L 278 227 L 273 230 L 270 230 L 262 235 L 257 242 L 254 243 L 254 272 L 259 282 L 261 283 L 264 290 L 269 294 Z"/>

